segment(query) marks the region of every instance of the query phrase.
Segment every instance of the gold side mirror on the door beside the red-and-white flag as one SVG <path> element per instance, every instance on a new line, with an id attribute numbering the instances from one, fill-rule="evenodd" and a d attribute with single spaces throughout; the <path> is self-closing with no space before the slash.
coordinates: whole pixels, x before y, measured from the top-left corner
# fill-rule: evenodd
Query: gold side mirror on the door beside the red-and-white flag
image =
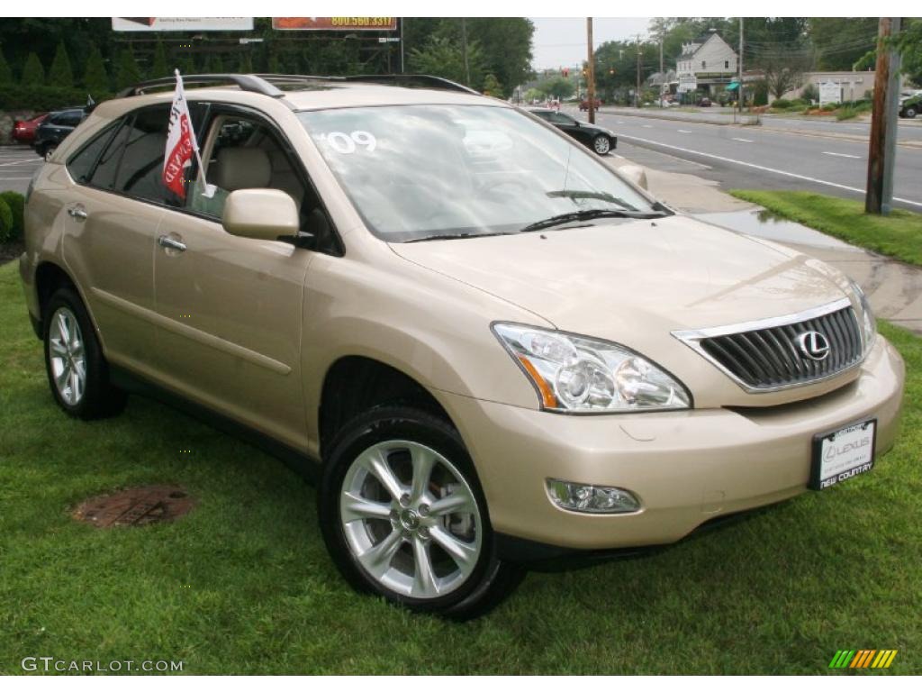
<path id="1" fill-rule="evenodd" d="M 301 220 L 291 196 L 281 190 L 234 190 L 224 202 L 221 225 L 231 235 L 255 240 L 295 238 Z"/>

